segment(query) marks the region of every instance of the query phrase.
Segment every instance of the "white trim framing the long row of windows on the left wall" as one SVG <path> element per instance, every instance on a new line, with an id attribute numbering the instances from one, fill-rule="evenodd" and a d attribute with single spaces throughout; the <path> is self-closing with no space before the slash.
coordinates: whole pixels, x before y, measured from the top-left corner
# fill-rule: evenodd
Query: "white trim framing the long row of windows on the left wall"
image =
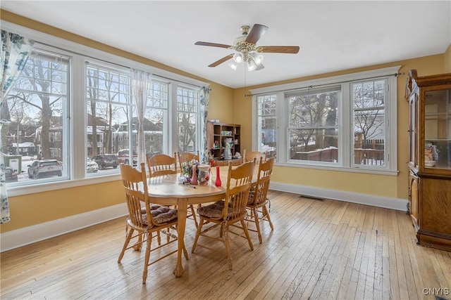
<path id="1" fill-rule="evenodd" d="M 187 86 L 201 87 L 209 86 L 206 81 L 200 81 L 192 79 L 181 74 L 176 74 L 166 70 L 162 70 L 144 63 L 139 63 L 135 60 L 116 56 L 111 53 L 97 50 L 89 46 L 77 44 L 73 41 L 54 37 L 50 34 L 38 32 L 27 27 L 16 25 L 10 22 L 0 20 L 0 27 L 2 30 L 7 30 L 20 34 L 29 39 L 36 41 L 35 46 L 39 45 L 39 48 L 44 45 L 51 46 L 51 48 L 61 49 L 61 53 L 69 53 L 71 57 L 71 74 L 70 74 L 70 86 L 78 86 L 78 89 L 70 89 L 70 99 L 85 99 L 86 81 L 85 81 L 85 60 L 97 59 L 104 61 L 105 63 L 111 63 L 128 68 L 134 68 L 143 70 L 154 74 L 156 78 L 164 78 L 171 83 L 171 86 L 175 86 L 183 82 Z M 82 70 L 82 71 L 75 71 Z M 200 89 L 200 88 L 199 88 Z M 170 96 L 175 97 L 176 93 Z M 49 190 L 60 190 L 64 188 L 73 188 L 82 185 L 91 185 L 96 183 L 104 183 L 109 181 L 118 181 L 121 179 L 120 174 L 109 174 L 105 176 L 88 177 L 86 176 L 86 102 L 85 101 L 70 101 L 70 144 L 73 145 L 72 150 L 68 153 L 68 157 L 71 157 L 70 163 L 72 169 L 69 174 L 68 180 L 58 182 L 47 182 L 44 184 L 37 183 L 35 185 L 12 185 L 8 186 L 8 196 L 27 195 L 31 193 L 41 193 Z M 170 131 L 171 132 L 171 129 Z M 169 146 L 172 149 L 172 145 Z"/>

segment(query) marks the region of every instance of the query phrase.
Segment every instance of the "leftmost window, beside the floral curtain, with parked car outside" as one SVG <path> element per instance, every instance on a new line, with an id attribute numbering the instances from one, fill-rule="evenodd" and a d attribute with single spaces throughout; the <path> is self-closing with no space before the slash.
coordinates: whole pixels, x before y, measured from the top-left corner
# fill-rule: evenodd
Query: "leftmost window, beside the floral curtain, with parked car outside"
<path id="1" fill-rule="evenodd" d="M 70 58 L 35 47 L 8 93 L 3 150 L 24 185 L 70 176 L 69 86 Z"/>

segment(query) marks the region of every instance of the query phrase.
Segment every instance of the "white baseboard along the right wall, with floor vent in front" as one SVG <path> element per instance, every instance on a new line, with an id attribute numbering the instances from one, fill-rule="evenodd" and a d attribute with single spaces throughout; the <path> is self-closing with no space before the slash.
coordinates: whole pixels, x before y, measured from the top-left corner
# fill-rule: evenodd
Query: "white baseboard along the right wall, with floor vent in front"
<path id="1" fill-rule="evenodd" d="M 350 193 L 343 190 L 327 190 L 324 188 L 312 188 L 305 185 L 294 185 L 288 183 L 272 182 L 269 185 L 271 190 L 280 190 L 281 192 L 295 193 L 304 196 L 320 197 L 332 200 L 340 200 L 358 204 L 371 205 L 373 207 L 383 207 L 386 209 L 395 209 L 407 211 L 408 200 L 399 198 L 380 197 L 376 195 Z"/>

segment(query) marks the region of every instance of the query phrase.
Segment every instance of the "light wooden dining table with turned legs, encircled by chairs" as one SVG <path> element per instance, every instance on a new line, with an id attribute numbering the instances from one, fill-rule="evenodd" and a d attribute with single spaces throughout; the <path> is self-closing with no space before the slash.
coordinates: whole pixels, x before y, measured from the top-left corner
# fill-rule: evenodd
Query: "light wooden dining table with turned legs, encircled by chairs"
<path id="1" fill-rule="evenodd" d="M 185 246 L 185 224 L 187 207 L 190 204 L 203 204 L 223 200 L 226 197 L 228 167 L 219 167 L 221 183 L 216 187 L 216 167 L 211 169 L 211 180 L 208 185 L 184 185 L 179 182 L 182 174 L 171 174 L 147 179 L 149 200 L 161 205 L 177 205 L 178 209 L 178 253 L 173 273 L 175 277 L 183 275 L 182 253 Z M 258 167 L 254 168 L 254 179 L 257 178 Z"/>

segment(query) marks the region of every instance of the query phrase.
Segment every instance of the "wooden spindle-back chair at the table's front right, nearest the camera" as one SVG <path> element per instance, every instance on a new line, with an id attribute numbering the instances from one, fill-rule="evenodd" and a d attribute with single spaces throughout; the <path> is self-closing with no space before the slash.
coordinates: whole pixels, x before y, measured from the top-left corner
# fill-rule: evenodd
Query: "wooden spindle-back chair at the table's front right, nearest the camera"
<path id="1" fill-rule="evenodd" d="M 234 232 L 229 231 L 229 226 L 241 228 L 245 233 L 251 251 L 254 250 L 254 246 L 249 237 L 249 232 L 247 231 L 245 217 L 247 214 L 247 198 L 249 197 L 249 189 L 252 183 L 252 174 L 254 173 L 255 164 L 255 161 L 247 162 L 233 168 L 232 164 L 229 163 L 225 200 L 217 201 L 214 204 L 209 204 L 197 209 L 200 221 L 196 237 L 194 237 L 194 244 L 191 249 L 192 253 L 194 253 L 197 245 L 206 249 L 212 249 L 211 247 L 197 244 L 201 235 L 202 237 L 221 241 L 226 246 L 228 264 L 231 269 L 232 255 L 230 253 L 229 234 Z M 206 225 L 207 223 L 211 224 Z M 241 226 L 236 225 L 236 223 L 240 223 Z M 207 234 L 209 230 L 218 226 L 220 227 L 219 237 L 213 235 L 213 233 Z"/>

